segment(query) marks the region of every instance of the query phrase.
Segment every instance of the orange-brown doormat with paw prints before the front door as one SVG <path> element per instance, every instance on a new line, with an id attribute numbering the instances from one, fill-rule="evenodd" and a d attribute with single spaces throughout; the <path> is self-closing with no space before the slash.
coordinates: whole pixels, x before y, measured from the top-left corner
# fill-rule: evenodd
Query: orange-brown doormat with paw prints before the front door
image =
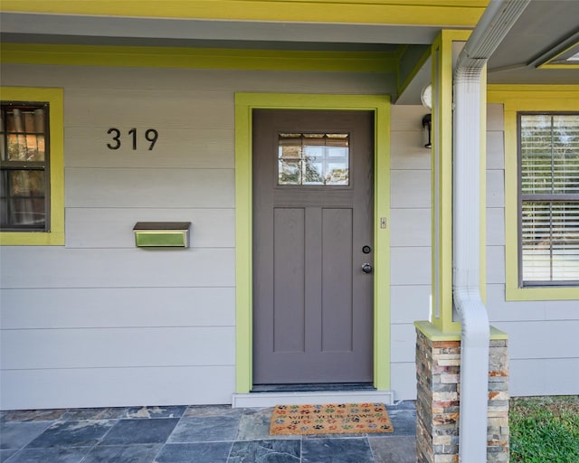
<path id="1" fill-rule="evenodd" d="M 393 432 L 384 403 L 276 405 L 271 434 Z"/>

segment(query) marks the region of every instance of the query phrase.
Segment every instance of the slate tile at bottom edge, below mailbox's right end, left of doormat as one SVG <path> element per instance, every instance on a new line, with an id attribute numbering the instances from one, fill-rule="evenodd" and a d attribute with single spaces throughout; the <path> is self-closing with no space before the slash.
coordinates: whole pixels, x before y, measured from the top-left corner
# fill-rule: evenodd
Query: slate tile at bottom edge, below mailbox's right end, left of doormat
<path id="1" fill-rule="evenodd" d="M 233 442 L 166 444 L 155 463 L 226 463 Z"/>

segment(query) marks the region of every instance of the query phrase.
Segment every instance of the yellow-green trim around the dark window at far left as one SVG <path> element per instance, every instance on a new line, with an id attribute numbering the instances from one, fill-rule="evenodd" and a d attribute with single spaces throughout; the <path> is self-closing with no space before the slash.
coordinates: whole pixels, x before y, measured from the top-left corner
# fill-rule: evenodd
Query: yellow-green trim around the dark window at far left
<path id="1" fill-rule="evenodd" d="M 50 104 L 50 231 L 0 231 L 0 244 L 63 245 L 64 244 L 64 117 L 63 90 L 29 87 L 2 87 L 5 101 L 46 101 Z"/>

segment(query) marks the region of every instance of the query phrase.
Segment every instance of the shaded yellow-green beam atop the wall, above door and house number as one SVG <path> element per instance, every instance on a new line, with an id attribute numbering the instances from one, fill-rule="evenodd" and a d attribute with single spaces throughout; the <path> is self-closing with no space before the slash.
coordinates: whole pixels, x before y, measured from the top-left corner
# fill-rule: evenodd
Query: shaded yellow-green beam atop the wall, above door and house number
<path id="1" fill-rule="evenodd" d="M 0 50 L 0 61 L 14 64 L 253 71 L 397 71 L 394 52 L 307 52 L 38 43 L 2 43 Z"/>

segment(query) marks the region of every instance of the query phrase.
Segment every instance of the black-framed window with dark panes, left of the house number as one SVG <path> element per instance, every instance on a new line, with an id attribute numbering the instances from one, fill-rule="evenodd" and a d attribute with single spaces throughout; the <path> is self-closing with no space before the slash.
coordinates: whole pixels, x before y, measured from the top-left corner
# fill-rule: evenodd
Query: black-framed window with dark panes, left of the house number
<path id="1" fill-rule="evenodd" d="M 2 101 L 2 231 L 50 231 L 48 112 L 48 103 Z"/>

